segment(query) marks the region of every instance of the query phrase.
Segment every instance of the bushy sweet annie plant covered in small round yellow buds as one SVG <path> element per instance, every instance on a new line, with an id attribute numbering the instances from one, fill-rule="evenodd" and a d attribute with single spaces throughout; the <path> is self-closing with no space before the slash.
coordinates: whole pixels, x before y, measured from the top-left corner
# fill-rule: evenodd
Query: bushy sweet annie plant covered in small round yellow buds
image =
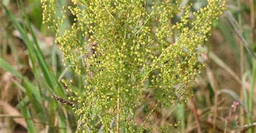
<path id="1" fill-rule="evenodd" d="M 55 0 L 41 0 L 43 23 L 56 30 L 63 62 L 83 77 L 84 88 L 72 88 L 64 80 L 73 107 L 80 115 L 83 132 L 142 132 L 158 107 L 186 102 L 190 87 L 204 63 L 198 61 L 213 23 L 224 8 L 224 0 L 208 0 L 206 7 L 191 14 L 191 4 L 181 1 L 72 0 L 56 16 Z M 70 12 L 71 29 L 63 27 Z M 178 17 L 174 22 L 172 18 Z M 65 29 L 65 32 L 61 32 Z M 156 107 L 136 123 L 142 95 L 151 89 Z"/>

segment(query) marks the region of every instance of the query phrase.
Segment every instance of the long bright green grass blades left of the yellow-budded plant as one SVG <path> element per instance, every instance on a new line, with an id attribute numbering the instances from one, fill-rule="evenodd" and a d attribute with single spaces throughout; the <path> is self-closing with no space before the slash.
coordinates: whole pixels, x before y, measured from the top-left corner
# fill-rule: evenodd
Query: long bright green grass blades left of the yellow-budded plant
<path id="1" fill-rule="evenodd" d="M 21 38 L 28 48 L 33 76 L 36 79 L 36 85 L 34 85 L 31 80 L 19 73 L 12 65 L 3 60 L 3 58 L 0 58 L 0 68 L 16 76 L 17 82 L 14 80 L 14 83 L 26 94 L 25 97 L 21 94 L 18 95 L 18 107 L 21 109 L 21 113 L 25 119 L 26 129 L 28 132 L 38 132 L 41 130 L 36 126 L 38 123 L 49 126 L 49 128 L 45 129 L 45 131 L 47 130 L 49 132 L 66 132 L 67 128 L 75 128 L 76 117 L 73 116 L 72 108 L 58 105 L 57 101 L 51 98 L 52 94 L 60 95 L 63 98 L 66 98 L 67 95 L 65 94 L 64 86 L 57 80 L 58 77 L 52 74 L 51 66 L 44 59 L 35 34 L 32 31 L 28 16 L 26 16 L 24 10 L 20 10 L 25 20 L 23 23 L 19 23 L 14 14 L 4 5 L 3 10 L 6 16 L 10 18 L 12 25 L 21 33 Z M 32 39 L 29 38 L 27 29 L 32 35 Z M 38 65 L 36 65 L 37 63 Z M 28 106 L 28 103 L 31 104 L 31 107 Z M 59 117 L 59 125 L 53 124 L 56 117 Z"/>

